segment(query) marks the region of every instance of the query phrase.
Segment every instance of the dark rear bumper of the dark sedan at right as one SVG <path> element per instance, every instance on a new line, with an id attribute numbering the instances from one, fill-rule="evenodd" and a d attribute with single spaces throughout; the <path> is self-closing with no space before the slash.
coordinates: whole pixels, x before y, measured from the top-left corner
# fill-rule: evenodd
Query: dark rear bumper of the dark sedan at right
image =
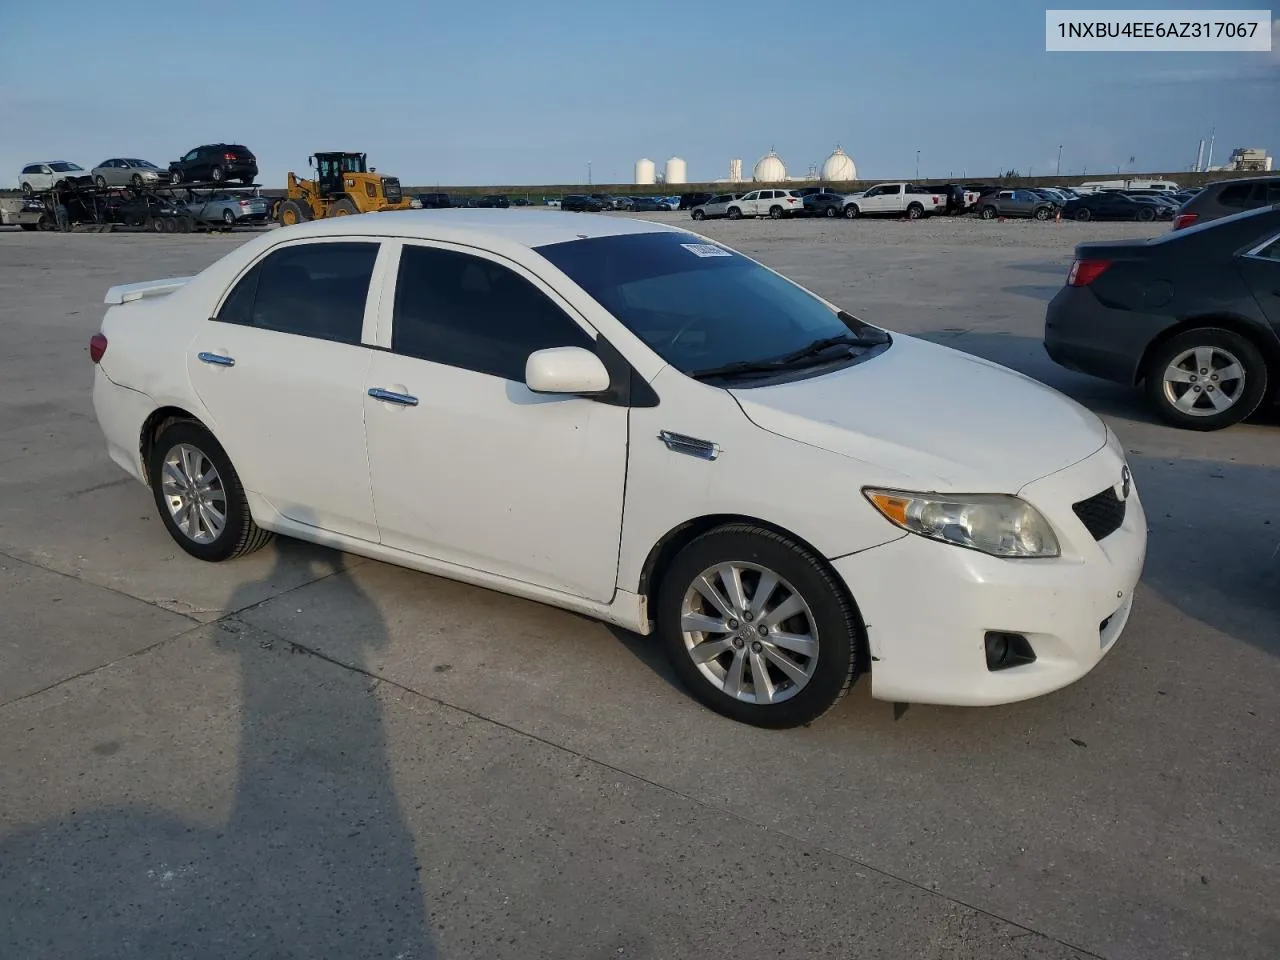
<path id="1" fill-rule="evenodd" d="M 1148 344 L 1172 317 L 1105 306 L 1088 287 L 1066 287 L 1044 311 L 1044 352 L 1055 364 L 1135 384 Z"/>

